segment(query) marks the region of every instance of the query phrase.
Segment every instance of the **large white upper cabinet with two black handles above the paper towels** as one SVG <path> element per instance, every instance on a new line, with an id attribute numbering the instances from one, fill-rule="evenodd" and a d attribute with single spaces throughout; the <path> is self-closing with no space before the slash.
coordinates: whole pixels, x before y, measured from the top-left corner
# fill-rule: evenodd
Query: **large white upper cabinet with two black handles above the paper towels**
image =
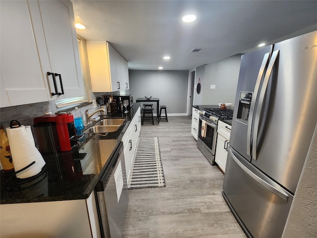
<path id="1" fill-rule="evenodd" d="M 0 1 L 0 11 L 0 106 L 84 95 L 72 3 Z"/>

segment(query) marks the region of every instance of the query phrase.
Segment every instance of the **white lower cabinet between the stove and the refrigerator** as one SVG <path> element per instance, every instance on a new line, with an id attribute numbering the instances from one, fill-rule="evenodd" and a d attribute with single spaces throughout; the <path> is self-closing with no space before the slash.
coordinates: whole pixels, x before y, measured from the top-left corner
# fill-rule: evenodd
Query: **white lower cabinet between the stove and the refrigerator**
<path id="1" fill-rule="evenodd" d="M 227 155 L 229 149 L 231 125 L 218 121 L 217 127 L 217 144 L 216 144 L 216 155 L 215 162 L 218 164 L 223 173 L 226 170 Z"/>

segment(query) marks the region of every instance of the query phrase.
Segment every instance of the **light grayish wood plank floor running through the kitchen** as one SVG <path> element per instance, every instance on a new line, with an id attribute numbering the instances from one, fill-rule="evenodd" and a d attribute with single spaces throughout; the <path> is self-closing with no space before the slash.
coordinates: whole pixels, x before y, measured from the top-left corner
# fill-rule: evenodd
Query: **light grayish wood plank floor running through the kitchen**
<path id="1" fill-rule="evenodd" d="M 129 190 L 123 238 L 245 238 L 222 198 L 223 175 L 191 135 L 191 117 L 144 121 L 159 137 L 166 187 Z"/>

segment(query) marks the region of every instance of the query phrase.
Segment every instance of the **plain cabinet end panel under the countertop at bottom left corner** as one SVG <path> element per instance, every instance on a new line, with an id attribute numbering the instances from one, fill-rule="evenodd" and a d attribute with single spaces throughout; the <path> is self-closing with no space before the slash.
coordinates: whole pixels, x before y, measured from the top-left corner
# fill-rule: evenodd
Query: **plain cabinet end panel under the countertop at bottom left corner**
<path id="1" fill-rule="evenodd" d="M 1 238 L 100 238 L 94 192 L 87 199 L 0 205 Z"/>

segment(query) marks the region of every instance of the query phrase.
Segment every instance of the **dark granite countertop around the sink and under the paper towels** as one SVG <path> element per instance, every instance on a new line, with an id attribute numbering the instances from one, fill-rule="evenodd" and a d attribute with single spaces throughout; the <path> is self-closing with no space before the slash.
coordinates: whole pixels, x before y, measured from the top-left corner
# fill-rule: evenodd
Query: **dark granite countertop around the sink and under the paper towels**
<path id="1" fill-rule="evenodd" d="M 85 134 L 80 145 L 72 151 L 43 154 L 45 170 L 37 178 L 21 185 L 6 186 L 4 182 L 10 179 L 5 179 L 1 170 L 0 204 L 88 198 L 139 106 L 139 103 L 134 103 L 128 114 L 106 116 L 126 118 L 117 131 L 106 136 Z"/>

